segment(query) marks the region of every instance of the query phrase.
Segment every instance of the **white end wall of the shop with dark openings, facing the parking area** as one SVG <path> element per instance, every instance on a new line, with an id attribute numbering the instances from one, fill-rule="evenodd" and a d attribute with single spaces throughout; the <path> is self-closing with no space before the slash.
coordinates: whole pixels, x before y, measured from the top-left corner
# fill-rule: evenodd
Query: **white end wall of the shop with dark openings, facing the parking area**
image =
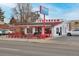
<path id="1" fill-rule="evenodd" d="M 65 36 L 67 32 L 67 25 L 65 22 L 52 27 L 52 37 Z"/>

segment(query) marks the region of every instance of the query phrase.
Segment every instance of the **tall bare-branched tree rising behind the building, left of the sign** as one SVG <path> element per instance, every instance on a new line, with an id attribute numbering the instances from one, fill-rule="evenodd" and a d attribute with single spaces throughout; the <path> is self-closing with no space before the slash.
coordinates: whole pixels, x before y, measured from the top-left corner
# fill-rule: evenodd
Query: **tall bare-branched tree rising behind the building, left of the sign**
<path id="1" fill-rule="evenodd" d="M 14 15 L 20 23 L 27 23 L 28 18 L 26 17 L 29 17 L 29 13 L 31 12 L 28 7 L 31 8 L 29 3 L 18 3 L 16 8 L 14 8 Z"/>

